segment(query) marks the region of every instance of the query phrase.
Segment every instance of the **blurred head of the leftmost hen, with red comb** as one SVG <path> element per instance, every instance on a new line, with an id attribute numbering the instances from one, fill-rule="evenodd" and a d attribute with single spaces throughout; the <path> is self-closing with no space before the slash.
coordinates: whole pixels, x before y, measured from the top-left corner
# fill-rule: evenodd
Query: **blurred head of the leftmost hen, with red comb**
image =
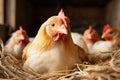
<path id="1" fill-rule="evenodd" d="M 13 33 L 12 37 L 16 44 L 27 44 L 29 42 L 28 35 L 25 30 L 23 30 L 22 26 L 19 27 L 19 30 Z"/>

